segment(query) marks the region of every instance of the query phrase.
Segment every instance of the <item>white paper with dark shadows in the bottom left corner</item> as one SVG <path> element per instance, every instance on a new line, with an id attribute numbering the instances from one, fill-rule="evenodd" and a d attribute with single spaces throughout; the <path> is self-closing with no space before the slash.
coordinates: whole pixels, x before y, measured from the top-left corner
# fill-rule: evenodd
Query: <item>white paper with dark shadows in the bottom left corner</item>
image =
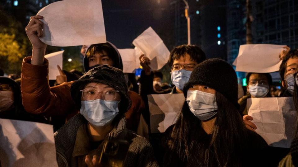
<path id="1" fill-rule="evenodd" d="M 0 150 L 0 166 L 58 166 L 52 125 L 0 119 Z"/>

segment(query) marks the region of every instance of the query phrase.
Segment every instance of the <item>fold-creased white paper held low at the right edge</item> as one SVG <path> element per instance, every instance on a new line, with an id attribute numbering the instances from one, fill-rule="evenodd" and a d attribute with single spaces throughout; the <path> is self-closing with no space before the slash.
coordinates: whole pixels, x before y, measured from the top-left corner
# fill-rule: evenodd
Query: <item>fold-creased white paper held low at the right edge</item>
<path id="1" fill-rule="evenodd" d="M 247 99 L 247 109 L 269 146 L 290 148 L 297 127 L 293 97 Z"/>

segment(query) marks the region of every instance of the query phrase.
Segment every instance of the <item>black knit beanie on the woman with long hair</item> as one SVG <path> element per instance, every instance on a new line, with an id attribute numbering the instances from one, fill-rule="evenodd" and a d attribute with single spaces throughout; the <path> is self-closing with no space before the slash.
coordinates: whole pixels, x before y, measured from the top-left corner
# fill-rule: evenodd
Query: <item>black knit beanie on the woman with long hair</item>
<path id="1" fill-rule="evenodd" d="M 188 82 L 184 85 L 183 93 L 191 85 L 200 84 L 215 89 L 223 94 L 238 108 L 238 80 L 233 67 L 222 59 L 212 58 L 201 62 L 195 67 Z"/>

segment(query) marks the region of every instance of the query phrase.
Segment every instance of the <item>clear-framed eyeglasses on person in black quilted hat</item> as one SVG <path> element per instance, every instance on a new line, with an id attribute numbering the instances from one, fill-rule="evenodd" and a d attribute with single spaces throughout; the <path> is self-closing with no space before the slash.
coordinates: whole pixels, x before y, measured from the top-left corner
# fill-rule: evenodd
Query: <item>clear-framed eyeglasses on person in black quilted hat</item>
<path id="1" fill-rule="evenodd" d="M 102 99 L 105 101 L 114 101 L 117 98 L 118 90 L 105 89 L 103 91 L 97 91 L 92 88 L 80 90 L 82 92 L 82 99 L 94 101 L 96 99 Z"/>

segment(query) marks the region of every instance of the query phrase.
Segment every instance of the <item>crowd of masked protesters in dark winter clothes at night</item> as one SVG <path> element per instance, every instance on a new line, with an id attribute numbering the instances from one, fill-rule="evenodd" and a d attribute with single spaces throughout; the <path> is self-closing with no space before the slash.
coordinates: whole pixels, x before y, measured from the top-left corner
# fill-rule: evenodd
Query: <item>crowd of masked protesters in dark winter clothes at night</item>
<path id="1" fill-rule="evenodd" d="M 0 71 L 0 118 L 52 124 L 59 166 L 101 166 L 106 141 L 127 142 L 124 166 L 298 166 L 298 136 L 291 148 L 269 147 L 246 108 L 249 98 L 279 96 L 294 97 L 298 111 L 297 49 L 280 53 L 280 93 L 269 73 L 247 73 L 246 89 L 239 89 L 233 67 L 206 59 L 196 45 L 171 51 L 173 86 L 140 55 L 138 89 L 122 72 L 121 55 L 111 42 L 83 46 L 85 73 L 61 70 L 51 87 L 47 45 L 39 39 L 42 18 L 31 17 L 26 27 L 33 50 L 23 60 L 21 76 L 4 77 Z M 166 93 L 186 98 L 177 121 L 162 134 L 142 133 L 141 119 L 150 127 L 147 95 Z"/>

